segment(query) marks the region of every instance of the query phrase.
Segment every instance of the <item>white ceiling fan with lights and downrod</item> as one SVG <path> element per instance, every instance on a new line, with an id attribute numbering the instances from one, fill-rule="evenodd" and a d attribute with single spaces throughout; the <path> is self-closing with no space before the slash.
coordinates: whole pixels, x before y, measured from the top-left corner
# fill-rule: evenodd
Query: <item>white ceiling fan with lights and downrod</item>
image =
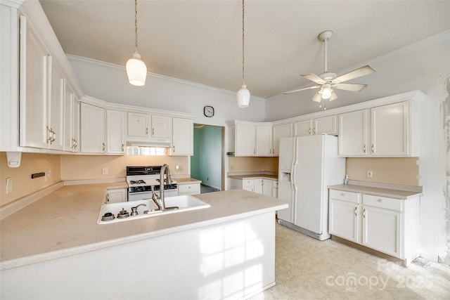
<path id="1" fill-rule="evenodd" d="M 297 91 L 304 91 L 307 89 L 319 89 L 319 91 L 316 93 L 316 95 L 314 95 L 311 101 L 321 103 L 322 100 L 333 101 L 338 98 L 338 95 L 336 95 L 336 93 L 333 91 L 334 89 L 341 89 L 345 91 L 361 91 L 367 86 L 367 84 L 345 84 L 343 82 L 375 72 L 375 70 L 373 70 L 373 68 L 369 65 L 365 65 L 364 67 L 360 67 L 359 69 L 353 70 L 352 72 L 343 74 L 340 77 L 338 77 L 338 75 L 335 73 L 328 72 L 327 41 L 328 39 L 330 39 L 331 34 L 333 34 L 331 30 L 326 30 L 324 32 L 321 32 L 318 36 L 318 39 L 325 43 L 325 72 L 323 74 L 320 74 L 319 76 L 313 73 L 301 75 L 306 79 L 314 81 L 316 83 L 316 86 L 309 86 L 304 89 L 287 91 L 284 94 L 296 93 Z"/>

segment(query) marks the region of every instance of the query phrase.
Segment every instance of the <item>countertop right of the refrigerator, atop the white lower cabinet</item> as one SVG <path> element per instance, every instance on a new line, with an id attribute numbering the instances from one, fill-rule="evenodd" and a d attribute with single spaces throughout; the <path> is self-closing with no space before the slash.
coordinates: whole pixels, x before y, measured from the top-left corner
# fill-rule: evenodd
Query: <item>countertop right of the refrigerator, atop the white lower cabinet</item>
<path id="1" fill-rule="evenodd" d="M 354 184 L 328 185 L 328 188 L 332 190 L 342 190 L 344 192 L 364 193 L 380 197 L 390 197 L 399 200 L 411 199 L 413 197 L 423 195 L 423 193 L 418 192 L 417 190 L 397 190 L 393 188 L 378 188 L 373 186 Z"/>

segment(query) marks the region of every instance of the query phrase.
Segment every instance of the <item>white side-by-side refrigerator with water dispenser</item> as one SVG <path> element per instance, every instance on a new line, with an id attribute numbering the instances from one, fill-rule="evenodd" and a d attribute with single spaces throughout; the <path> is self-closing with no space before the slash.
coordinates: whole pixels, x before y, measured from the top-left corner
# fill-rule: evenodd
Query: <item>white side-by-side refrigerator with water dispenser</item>
<path id="1" fill-rule="evenodd" d="M 328 185 L 343 183 L 345 157 L 338 157 L 338 137 L 280 138 L 278 198 L 289 207 L 278 223 L 318 240 L 328 233 Z"/>

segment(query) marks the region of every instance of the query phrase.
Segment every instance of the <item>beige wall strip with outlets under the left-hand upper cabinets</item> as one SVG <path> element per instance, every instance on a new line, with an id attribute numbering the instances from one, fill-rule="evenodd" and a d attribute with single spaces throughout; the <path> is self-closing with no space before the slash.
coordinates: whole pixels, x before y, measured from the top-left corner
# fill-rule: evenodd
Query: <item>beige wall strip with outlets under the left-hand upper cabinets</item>
<path id="1" fill-rule="evenodd" d="M 51 171 L 51 176 L 31 178 L 31 174 Z M 20 167 L 10 168 L 6 152 L 0 152 L 0 206 L 46 188 L 61 180 L 60 155 L 22 153 Z M 13 179 L 13 192 L 6 194 L 6 178 Z"/>

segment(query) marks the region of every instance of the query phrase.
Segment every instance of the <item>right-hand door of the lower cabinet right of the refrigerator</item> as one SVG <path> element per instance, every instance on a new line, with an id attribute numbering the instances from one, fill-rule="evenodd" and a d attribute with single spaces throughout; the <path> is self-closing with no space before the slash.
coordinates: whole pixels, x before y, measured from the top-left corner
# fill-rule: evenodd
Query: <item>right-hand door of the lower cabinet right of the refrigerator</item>
<path id="1" fill-rule="evenodd" d="M 363 206 L 364 246 L 401 257 L 401 238 L 401 212 Z"/>

